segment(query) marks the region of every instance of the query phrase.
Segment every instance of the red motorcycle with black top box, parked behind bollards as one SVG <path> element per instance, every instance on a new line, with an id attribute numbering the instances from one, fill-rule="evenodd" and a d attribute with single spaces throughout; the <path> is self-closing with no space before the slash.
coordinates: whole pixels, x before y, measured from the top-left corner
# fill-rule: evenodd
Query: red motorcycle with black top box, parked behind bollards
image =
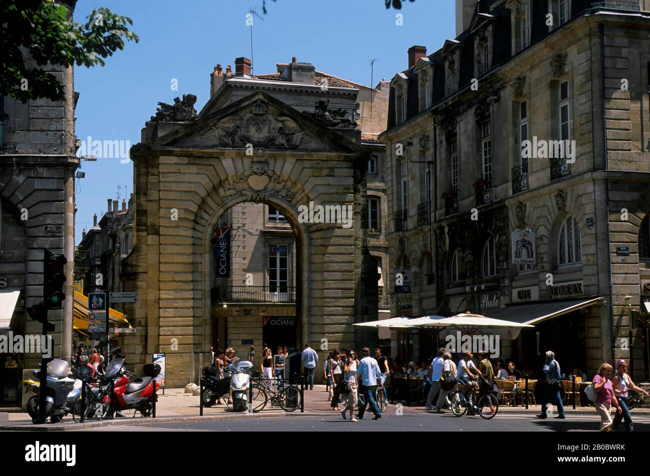
<path id="1" fill-rule="evenodd" d="M 145 364 L 145 377 L 132 379 L 135 375 L 124 368 L 124 359 L 116 358 L 111 360 L 104 372 L 103 379 L 108 384 L 103 388 L 102 401 L 107 405 L 110 417 L 116 410 L 136 410 L 142 416 L 150 416 L 153 410 L 153 385 L 156 391 L 160 383 L 155 378 L 161 373 L 161 366 L 158 364 Z M 110 385 L 113 385 L 112 398 Z M 156 399 L 158 395 L 156 394 Z M 112 401 L 112 405 L 110 405 Z M 135 413 L 134 415 L 135 416 Z"/>

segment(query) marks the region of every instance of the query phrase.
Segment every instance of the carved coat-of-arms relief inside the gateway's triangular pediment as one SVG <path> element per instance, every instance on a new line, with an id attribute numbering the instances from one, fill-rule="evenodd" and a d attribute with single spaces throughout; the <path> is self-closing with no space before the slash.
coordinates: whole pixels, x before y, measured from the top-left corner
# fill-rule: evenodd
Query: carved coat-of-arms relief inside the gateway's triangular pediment
<path id="1" fill-rule="evenodd" d="M 252 144 L 266 149 L 295 149 L 313 140 L 293 119 L 269 114 L 268 106 L 261 99 L 253 103 L 250 112 L 221 119 L 201 134 L 201 139 L 211 138 L 216 138 L 222 147 Z"/>

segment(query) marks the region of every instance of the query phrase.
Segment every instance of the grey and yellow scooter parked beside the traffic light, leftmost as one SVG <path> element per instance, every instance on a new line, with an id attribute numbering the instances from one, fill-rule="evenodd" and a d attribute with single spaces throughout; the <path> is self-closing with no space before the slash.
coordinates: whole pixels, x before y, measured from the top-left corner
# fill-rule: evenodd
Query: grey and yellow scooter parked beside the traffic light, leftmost
<path id="1" fill-rule="evenodd" d="M 45 417 L 49 417 L 52 423 L 59 423 L 66 414 L 68 407 L 66 399 L 73 389 L 75 379 L 68 377 L 68 362 L 55 358 L 47 364 L 47 376 L 45 389 Z M 40 371 L 34 370 L 34 379 L 26 379 L 23 386 L 28 392 L 34 392 L 36 395 L 27 400 L 27 413 L 36 424 L 40 421 Z"/>

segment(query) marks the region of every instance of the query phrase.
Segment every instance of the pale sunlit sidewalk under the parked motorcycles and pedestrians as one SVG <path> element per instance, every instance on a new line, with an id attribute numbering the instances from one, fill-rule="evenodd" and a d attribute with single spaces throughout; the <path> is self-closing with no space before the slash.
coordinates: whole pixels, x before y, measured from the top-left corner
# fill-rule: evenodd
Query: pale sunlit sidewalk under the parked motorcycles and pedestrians
<path id="1" fill-rule="evenodd" d="M 168 388 L 164 394 L 159 392 L 158 404 L 156 406 L 156 420 L 164 421 L 187 421 L 187 420 L 200 420 L 209 419 L 216 420 L 221 418 L 255 418 L 255 417 L 282 417 L 282 416 L 338 416 L 338 412 L 332 410 L 330 402 L 328 401 L 328 393 L 325 391 L 324 385 L 315 385 L 314 390 L 305 390 L 305 412 L 300 413 L 300 410 L 295 412 L 284 412 L 279 407 L 269 407 L 253 415 L 248 413 L 235 413 L 231 407 L 224 405 L 214 405 L 214 407 L 203 408 L 203 417 L 199 416 L 199 397 L 192 394 L 186 394 L 182 388 Z M 343 408 L 343 405 L 339 405 Z M 555 408 L 553 408 L 555 411 Z M 443 410 L 450 412 L 450 410 Z M 423 415 L 430 414 L 424 409 L 424 405 L 411 405 L 407 407 L 406 403 L 391 404 L 384 410 L 388 414 L 396 414 L 402 412 L 404 415 Z M 499 413 L 509 415 L 529 415 L 533 416 L 541 412 L 539 405 L 532 405 L 526 410 L 525 407 L 499 407 Z M 577 407 L 575 410 L 571 406 L 565 407 L 565 412 L 568 416 L 588 415 L 596 416 L 593 407 Z M 650 416 L 650 408 L 632 410 L 632 416 L 643 415 Z M 67 416 L 61 423 L 51 424 L 47 423 L 45 426 L 33 425 L 31 418 L 26 412 L 10 412 L 3 413 L 0 410 L 0 430 L 20 430 L 20 431 L 62 431 L 81 429 L 86 427 L 103 427 L 110 425 L 143 425 L 151 423 L 151 418 L 131 418 L 129 414 L 125 418 L 118 418 L 114 420 L 86 420 L 85 423 L 74 423 L 72 416 Z"/>

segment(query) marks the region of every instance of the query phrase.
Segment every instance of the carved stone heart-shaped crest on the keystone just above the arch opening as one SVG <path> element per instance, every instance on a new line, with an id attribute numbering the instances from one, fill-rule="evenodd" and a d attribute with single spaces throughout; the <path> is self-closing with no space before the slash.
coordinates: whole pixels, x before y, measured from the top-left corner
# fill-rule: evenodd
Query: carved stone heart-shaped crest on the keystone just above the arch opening
<path id="1" fill-rule="evenodd" d="M 225 188 L 220 194 L 223 201 L 234 195 L 244 195 L 247 201 L 260 203 L 270 195 L 282 197 L 291 201 L 296 195 L 289 188 L 286 179 L 270 169 L 268 160 L 253 160 L 250 164 L 250 171 L 239 173 L 232 181 L 231 186 Z"/>

